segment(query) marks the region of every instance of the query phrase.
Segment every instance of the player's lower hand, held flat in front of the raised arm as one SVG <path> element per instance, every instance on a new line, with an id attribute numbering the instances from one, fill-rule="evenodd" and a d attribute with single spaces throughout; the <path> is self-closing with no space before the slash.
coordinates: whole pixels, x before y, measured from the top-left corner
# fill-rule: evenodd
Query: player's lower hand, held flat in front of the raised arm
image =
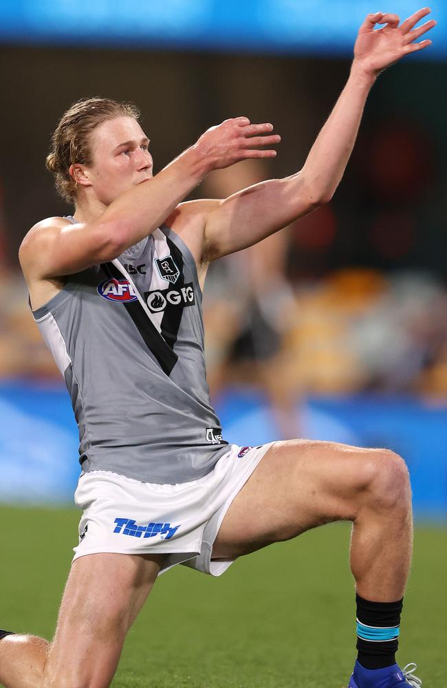
<path id="1" fill-rule="evenodd" d="M 204 160 L 207 172 L 248 158 L 274 158 L 276 151 L 265 147 L 279 143 L 281 136 L 272 130 L 269 123 L 252 125 L 248 118 L 236 117 L 210 127 L 193 148 Z"/>

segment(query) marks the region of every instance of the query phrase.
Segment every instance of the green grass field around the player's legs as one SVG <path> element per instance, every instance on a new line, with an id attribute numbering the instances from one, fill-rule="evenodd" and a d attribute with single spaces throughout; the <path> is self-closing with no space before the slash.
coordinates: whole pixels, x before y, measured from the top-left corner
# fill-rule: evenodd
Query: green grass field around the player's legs
<path id="1" fill-rule="evenodd" d="M 51 637 L 76 543 L 72 509 L 0 508 L 0 627 Z M 347 524 L 241 559 L 221 579 L 157 581 L 113 688 L 341 688 L 355 656 Z M 415 533 L 399 652 L 447 688 L 447 530 Z"/>

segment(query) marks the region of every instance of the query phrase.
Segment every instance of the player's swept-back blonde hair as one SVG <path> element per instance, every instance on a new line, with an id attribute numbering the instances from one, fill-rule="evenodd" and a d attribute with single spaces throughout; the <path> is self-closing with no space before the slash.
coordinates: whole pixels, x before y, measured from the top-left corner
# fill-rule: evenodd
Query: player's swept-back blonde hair
<path id="1" fill-rule="evenodd" d="M 92 162 L 91 131 L 106 120 L 123 116 L 140 121 L 140 111 L 133 103 L 111 98 L 82 98 L 63 114 L 52 135 L 52 148 L 45 164 L 54 175 L 56 191 L 65 201 L 73 202 L 76 197 L 76 181 L 69 173 L 70 166 Z"/>

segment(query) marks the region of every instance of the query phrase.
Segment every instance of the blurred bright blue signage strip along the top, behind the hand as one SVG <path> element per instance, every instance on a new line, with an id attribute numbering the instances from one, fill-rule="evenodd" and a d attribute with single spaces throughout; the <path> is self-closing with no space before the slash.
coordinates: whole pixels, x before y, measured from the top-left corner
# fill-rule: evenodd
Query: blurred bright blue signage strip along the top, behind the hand
<path id="1" fill-rule="evenodd" d="M 401 19 L 421 0 L 389 0 Z M 447 3 L 422 58 L 447 56 Z M 349 56 L 375 0 L 0 0 L 0 42 Z"/>

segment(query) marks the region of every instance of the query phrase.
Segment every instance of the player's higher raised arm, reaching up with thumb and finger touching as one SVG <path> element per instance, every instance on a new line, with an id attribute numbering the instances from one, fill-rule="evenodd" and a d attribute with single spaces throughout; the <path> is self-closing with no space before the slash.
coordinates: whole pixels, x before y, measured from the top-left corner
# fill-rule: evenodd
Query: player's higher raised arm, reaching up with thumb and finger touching
<path id="1" fill-rule="evenodd" d="M 428 8 L 419 10 L 401 25 L 396 14 L 376 12 L 367 16 L 358 32 L 347 84 L 303 169 L 285 179 L 255 184 L 221 201 L 206 219 L 204 261 L 252 246 L 331 200 L 356 142 L 375 78 L 404 55 L 430 45 L 429 40 L 414 42 L 435 26 L 430 20 L 414 28 L 429 13 Z M 385 26 L 375 30 L 377 23 Z"/>

